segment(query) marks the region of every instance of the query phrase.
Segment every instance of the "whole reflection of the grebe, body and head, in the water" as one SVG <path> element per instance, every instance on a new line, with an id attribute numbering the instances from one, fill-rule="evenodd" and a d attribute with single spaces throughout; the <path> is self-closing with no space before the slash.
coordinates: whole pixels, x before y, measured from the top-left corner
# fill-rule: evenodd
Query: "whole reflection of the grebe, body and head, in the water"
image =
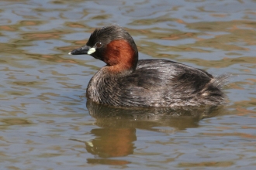
<path id="1" fill-rule="evenodd" d="M 123 165 L 123 160 L 102 159 L 123 157 L 133 154 L 134 141 L 137 141 L 136 129 L 160 131 L 159 127 L 171 127 L 174 130 L 198 127 L 204 117 L 220 113 L 216 107 L 183 108 L 119 108 L 95 104 L 87 101 L 89 114 L 95 117 L 100 128 L 92 129 L 95 136 L 86 141 L 86 150 L 100 158 L 90 158 L 88 163 Z M 161 131 L 164 131 L 161 129 Z M 168 130 L 166 132 L 169 132 Z"/>

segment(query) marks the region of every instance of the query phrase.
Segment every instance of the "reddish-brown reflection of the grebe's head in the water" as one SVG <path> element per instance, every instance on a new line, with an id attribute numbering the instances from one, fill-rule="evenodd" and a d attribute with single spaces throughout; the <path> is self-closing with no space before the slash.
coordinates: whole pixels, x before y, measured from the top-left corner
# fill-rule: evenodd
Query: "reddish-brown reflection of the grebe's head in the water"
<path id="1" fill-rule="evenodd" d="M 102 128 L 93 129 L 96 137 L 86 142 L 86 150 L 102 158 L 120 157 L 133 154 L 133 141 L 136 141 L 134 128 Z"/>

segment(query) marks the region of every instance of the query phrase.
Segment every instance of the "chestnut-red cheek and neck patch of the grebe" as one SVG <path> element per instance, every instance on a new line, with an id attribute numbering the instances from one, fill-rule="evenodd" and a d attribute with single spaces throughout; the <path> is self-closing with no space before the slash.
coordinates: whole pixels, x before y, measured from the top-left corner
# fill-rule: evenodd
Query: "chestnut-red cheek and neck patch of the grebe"
<path id="1" fill-rule="evenodd" d="M 135 70 L 138 61 L 137 47 L 124 39 L 116 39 L 106 46 L 103 61 L 110 73 L 124 73 Z"/>

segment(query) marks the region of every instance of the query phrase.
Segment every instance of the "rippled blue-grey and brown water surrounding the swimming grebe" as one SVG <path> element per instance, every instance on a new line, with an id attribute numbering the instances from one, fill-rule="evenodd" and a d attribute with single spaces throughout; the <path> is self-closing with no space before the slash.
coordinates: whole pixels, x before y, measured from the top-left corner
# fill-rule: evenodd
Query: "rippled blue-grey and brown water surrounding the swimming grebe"
<path id="1" fill-rule="evenodd" d="M 1 169 L 256 168 L 256 1 L 0 6 Z M 112 23 L 130 32 L 140 59 L 233 74 L 227 106 L 179 112 L 86 105 L 88 80 L 104 64 L 67 53 Z"/>

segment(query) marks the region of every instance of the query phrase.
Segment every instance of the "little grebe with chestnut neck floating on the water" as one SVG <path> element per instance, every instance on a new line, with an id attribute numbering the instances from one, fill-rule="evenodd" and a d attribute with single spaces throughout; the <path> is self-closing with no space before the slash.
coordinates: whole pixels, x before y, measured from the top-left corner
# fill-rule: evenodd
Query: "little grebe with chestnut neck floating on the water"
<path id="1" fill-rule="evenodd" d="M 71 55 L 88 54 L 106 63 L 88 83 L 86 97 L 116 107 L 178 107 L 223 104 L 227 76 L 166 59 L 138 60 L 133 38 L 119 26 L 95 29 L 85 46 Z"/>

